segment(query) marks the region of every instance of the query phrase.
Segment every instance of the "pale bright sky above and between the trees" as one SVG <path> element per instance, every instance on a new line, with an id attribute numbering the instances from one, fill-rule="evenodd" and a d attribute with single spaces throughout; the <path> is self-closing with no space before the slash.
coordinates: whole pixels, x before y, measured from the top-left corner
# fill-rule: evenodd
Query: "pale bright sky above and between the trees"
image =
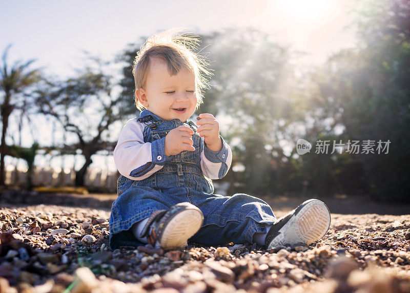
<path id="1" fill-rule="evenodd" d="M 172 27 L 203 33 L 254 26 L 275 34 L 294 50 L 305 51 L 307 55 L 296 60 L 301 66 L 317 65 L 339 49 L 354 45 L 354 33 L 346 29 L 352 20 L 347 13 L 350 2 L 0 0 L 0 52 L 13 44 L 9 61 L 34 58 L 34 65 L 44 67 L 46 74 L 63 78 L 81 66 L 81 50 L 112 59 L 141 36 Z M 23 144 L 30 145 L 30 134 L 25 136 Z M 44 143 L 50 139 L 43 138 Z M 112 161 L 109 164 L 115 169 Z"/>

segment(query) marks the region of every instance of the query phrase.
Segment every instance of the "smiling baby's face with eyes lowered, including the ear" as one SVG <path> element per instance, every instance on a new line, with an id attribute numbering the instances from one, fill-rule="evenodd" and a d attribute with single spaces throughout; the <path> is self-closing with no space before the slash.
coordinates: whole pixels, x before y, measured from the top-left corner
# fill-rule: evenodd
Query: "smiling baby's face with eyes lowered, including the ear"
<path id="1" fill-rule="evenodd" d="M 195 75 L 181 69 L 171 76 L 165 61 L 152 58 L 145 89 L 136 95 L 142 106 L 162 119 L 185 122 L 196 108 Z"/>

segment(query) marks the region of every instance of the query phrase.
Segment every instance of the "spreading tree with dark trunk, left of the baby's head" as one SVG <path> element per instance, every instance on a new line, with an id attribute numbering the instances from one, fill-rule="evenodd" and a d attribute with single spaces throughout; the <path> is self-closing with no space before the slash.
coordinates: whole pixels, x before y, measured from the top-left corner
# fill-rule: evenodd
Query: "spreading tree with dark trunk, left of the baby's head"
<path id="1" fill-rule="evenodd" d="M 91 59 L 92 65 L 79 70 L 64 81 L 49 83 L 37 92 L 40 112 L 56 118 L 63 129 L 74 134 L 76 142 L 64 142 L 61 153 L 80 150 L 85 163 L 76 171 L 75 185 L 83 186 L 92 156 L 99 151 L 112 151 L 116 141 L 110 138 L 110 127 L 129 112 L 122 97 L 113 93 L 112 76 L 103 73 L 103 61 Z M 108 65 L 108 64 L 106 64 Z"/>

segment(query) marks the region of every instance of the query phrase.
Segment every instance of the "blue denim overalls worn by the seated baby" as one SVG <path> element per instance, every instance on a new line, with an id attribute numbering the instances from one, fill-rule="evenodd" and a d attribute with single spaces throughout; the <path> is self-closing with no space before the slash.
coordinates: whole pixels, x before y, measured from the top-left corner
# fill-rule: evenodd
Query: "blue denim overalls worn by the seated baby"
<path id="1" fill-rule="evenodd" d="M 145 142 L 165 137 L 182 124 L 191 127 L 195 151 L 171 156 L 162 169 L 146 179 L 132 180 L 122 175 L 118 178 L 118 198 L 112 204 L 110 216 L 112 249 L 144 245 L 134 237 L 131 226 L 154 211 L 168 210 L 179 202 L 190 202 L 202 211 L 202 227 L 189 241 L 205 245 L 252 243 L 254 233 L 265 233 L 265 225 L 275 222 L 272 208 L 261 199 L 246 194 L 213 194 L 212 181 L 201 171 L 203 142 L 192 121 L 163 120 L 156 115 L 140 117 L 138 121 L 147 124 Z"/>

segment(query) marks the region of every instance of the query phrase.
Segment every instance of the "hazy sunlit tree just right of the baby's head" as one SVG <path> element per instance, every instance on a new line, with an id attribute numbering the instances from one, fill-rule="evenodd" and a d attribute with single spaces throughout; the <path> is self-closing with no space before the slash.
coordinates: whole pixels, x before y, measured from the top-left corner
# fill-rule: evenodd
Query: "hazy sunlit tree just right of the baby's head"
<path id="1" fill-rule="evenodd" d="M 232 165 L 244 166 L 241 190 L 285 191 L 293 166 L 281 142 L 296 141 L 291 125 L 303 118 L 289 48 L 252 28 L 214 32 L 202 43 L 214 75 L 199 111 L 225 118 Z"/>

